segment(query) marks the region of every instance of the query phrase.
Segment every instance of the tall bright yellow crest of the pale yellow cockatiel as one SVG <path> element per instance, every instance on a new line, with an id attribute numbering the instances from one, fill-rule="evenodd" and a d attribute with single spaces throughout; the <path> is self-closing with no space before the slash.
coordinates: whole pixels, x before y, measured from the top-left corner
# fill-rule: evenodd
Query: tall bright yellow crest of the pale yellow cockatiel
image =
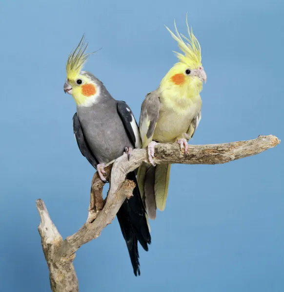
<path id="1" fill-rule="evenodd" d="M 176 20 L 174 21 L 174 23 L 175 23 L 176 35 L 167 26 L 165 27 L 170 32 L 171 36 L 178 42 L 178 45 L 180 49 L 183 51 L 184 55 L 175 51 L 174 53 L 176 53 L 177 57 L 180 59 L 182 63 L 188 65 L 191 69 L 202 66 L 201 47 L 197 38 L 194 36 L 192 32 L 192 28 L 191 28 L 191 31 L 189 30 L 189 26 L 187 22 L 187 14 L 186 14 L 186 26 L 187 26 L 187 32 L 188 32 L 189 38 L 184 37 L 183 34 L 180 35 L 176 26 Z M 187 41 L 187 43 L 183 41 L 182 37 Z"/>

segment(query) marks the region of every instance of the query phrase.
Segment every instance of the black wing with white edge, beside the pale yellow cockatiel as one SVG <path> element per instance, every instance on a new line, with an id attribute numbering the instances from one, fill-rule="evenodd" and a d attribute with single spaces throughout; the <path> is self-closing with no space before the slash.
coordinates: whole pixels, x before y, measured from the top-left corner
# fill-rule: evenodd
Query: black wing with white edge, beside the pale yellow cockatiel
<path id="1" fill-rule="evenodd" d="M 132 144 L 135 148 L 141 148 L 139 128 L 132 111 L 124 101 L 117 102 L 117 111 Z"/>

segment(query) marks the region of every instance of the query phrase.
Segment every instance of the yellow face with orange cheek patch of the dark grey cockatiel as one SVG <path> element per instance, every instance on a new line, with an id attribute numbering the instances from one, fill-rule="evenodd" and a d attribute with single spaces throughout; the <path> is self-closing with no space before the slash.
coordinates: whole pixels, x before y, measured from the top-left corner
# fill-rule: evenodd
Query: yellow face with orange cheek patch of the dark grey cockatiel
<path id="1" fill-rule="evenodd" d="M 98 93 L 98 86 L 85 74 L 78 74 L 66 79 L 64 92 L 72 94 L 77 105 L 89 104 Z"/>

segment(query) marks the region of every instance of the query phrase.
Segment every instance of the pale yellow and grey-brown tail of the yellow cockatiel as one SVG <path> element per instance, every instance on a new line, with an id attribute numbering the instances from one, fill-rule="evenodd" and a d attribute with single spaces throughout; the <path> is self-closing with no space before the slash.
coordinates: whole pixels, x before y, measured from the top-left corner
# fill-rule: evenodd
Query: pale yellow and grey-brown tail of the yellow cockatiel
<path id="1" fill-rule="evenodd" d="M 156 218 L 156 209 L 163 211 L 168 195 L 171 164 L 158 164 L 156 167 L 142 164 L 138 169 L 137 180 L 150 219 Z"/>

